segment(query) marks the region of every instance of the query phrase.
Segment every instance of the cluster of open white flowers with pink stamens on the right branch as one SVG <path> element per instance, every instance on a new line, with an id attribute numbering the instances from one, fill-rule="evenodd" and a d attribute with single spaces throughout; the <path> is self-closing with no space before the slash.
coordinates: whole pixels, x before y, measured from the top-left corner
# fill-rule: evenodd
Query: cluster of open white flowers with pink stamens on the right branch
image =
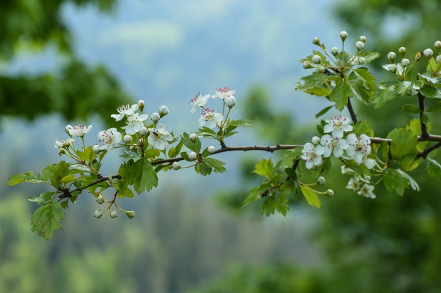
<path id="1" fill-rule="evenodd" d="M 331 134 L 325 134 L 321 138 L 313 137 L 312 143 L 303 146 L 301 158 L 305 161 L 306 168 L 312 169 L 314 166 L 321 165 L 322 156 L 327 158 L 331 155 L 336 158 L 354 160 L 357 164 L 364 163 L 368 169 L 375 167 L 375 160 L 368 158 L 371 147 L 370 139 L 366 134 L 357 137 L 355 133 L 350 133 L 343 138 L 345 132 L 353 130 L 350 118 L 340 115 L 326 122 L 323 132 Z"/>

